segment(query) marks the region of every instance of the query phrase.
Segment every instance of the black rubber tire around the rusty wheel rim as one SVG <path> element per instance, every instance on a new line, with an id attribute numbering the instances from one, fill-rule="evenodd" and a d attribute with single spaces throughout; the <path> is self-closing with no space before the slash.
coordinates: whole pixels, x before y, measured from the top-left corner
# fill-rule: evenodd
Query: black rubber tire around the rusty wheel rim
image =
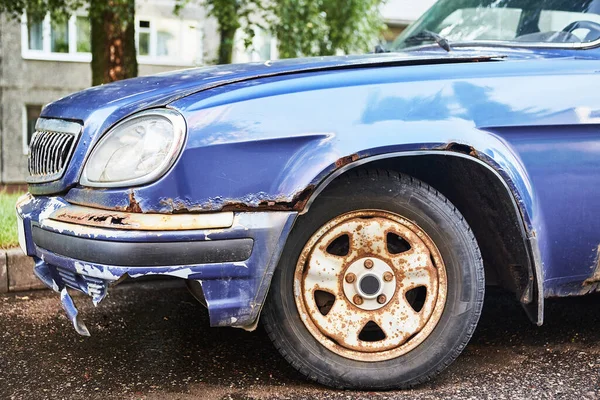
<path id="1" fill-rule="evenodd" d="M 448 293 L 438 324 L 415 349 L 387 361 L 355 361 L 328 350 L 306 329 L 294 299 L 294 271 L 306 242 L 327 221 L 360 209 L 387 210 L 415 222 L 434 241 L 446 266 Z M 340 389 L 409 388 L 430 380 L 462 352 L 479 321 L 484 290 L 477 241 L 448 199 L 409 176 L 361 169 L 333 181 L 298 218 L 273 276 L 262 322 L 279 352 L 314 381 Z"/>

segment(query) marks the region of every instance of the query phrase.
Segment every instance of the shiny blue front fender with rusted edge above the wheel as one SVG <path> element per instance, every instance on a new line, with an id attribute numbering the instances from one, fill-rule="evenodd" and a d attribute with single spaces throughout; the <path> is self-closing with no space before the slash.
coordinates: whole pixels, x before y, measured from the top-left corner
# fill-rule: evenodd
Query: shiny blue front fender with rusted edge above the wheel
<path id="1" fill-rule="evenodd" d="M 539 243 L 544 294 L 561 293 L 562 283 L 581 286 L 592 275 L 600 241 L 600 220 L 590 215 L 600 186 L 577 189 L 600 166 L 593 146 L 600 101 L 589 90 L 600 83 L 599 67 L 595 60 L 572 59 L 457 64 L 451 77 L 447 66 L 402 67 L 258 80 L 210 97 L 190 96 L 171 104 L 190 126 L 175 176 L 194 175 L 186 162 L 190 154 L 190 163 L 201 159 L 215 166 L 216 177 L 196 180 L 202 193 L 168 193 L 161 184 L 136 191 L 136 197 L 153 199 L 142 209 L 159 212 L 222 209 L 236 202 L 293 206 L 306 188 L 345 163 L 458 143 L 504 178 L 528 236 Z M 261 118 L 264 110 L 268 116 Z M 531 148 L 537 144 L 554 150 L 540 159 L 540 149 Z M 261 162 L 255 164 L 249 153 L 260 154 Z M 583 174 L 571 180 L 577 170 Z M 561 180 L 569 184 L 556 186 Z M 552 223 L 547 215 L 561 218 Z M 565 235 L 569 246 L 555 246 Z"/>

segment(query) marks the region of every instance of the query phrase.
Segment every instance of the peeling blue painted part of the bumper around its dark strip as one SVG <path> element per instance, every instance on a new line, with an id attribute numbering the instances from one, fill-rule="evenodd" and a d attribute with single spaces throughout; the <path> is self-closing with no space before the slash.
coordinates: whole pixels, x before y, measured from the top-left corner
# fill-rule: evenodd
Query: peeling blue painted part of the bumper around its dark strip
<path id="1" fill-rule="evenodd" d="M 22 203 L 19 213 L 28 227 L 27 254 L 36 261 L 36 275 L 57 292 L 63 292 L 67 283 L 62 279 L 57 267 L 72 271 L 82 277 L 103 280 L 107 285 L 124 276 L 137 278 L 149 275 L 165 275 L 182 279 L 199 280 L 208 302 L 212 326 L 252 325 L 257 319 L 267 294 L 268 285 L 283 249 L 294 217 L 294 212 L 247 212 L 237 213 L 234 223 L 227 229 L 197 231 L 119 231 L 73 225 L 73 230 L 56 229 L 46 224 L 40 215 L 47 215 L 45 207 L 54 208 L 64 204 L 58 197 L 36 197 L 29 203 Z M 40 212 L 41 210 L 41 212 Z M 175 265 L 168 267 L 121 267 L 101 265 L 75 260 L 37 247 L 31 240 L 31 225 L 63 235 L 79 236 L 98 240 L 122 240 L 129 242 L 154 241 L 169 242 L 181 240 L 223 240 L 251 238 L 254 249 L 249 259 L 243 262 Z M 73 288 L 72 286 L 69 286 Z M 79 288 L 85 292 L 85 288 Z M 101 299 L 99 299 L 101 300 Z M 72 312 L 70 310 L 69 312 Z M 235 323 L 231 321 L 235 319 Z"/>

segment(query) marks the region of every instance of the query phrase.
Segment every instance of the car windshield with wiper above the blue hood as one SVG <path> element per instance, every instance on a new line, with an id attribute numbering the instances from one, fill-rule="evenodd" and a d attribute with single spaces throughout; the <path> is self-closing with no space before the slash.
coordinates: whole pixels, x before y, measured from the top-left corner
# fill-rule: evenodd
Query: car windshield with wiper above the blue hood
<path id="1" fill-rule="evenodd" d="M 439 43 L 589 43 L 600 39 L 600 0 L 440 0 L 391 46 Z"/>

